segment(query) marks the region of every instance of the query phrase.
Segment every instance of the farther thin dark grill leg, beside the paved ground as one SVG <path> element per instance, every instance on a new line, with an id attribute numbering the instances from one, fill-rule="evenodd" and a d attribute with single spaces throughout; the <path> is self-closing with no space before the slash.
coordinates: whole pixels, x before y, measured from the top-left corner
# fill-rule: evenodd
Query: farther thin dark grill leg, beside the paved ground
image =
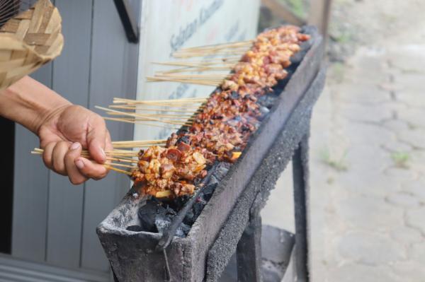
<path id="1" fill-rule="evenodd" d="M 295 275 L 296 281 L 310 281 L 308 252 L 308 134 L 302 138 L 293 155 L 293 182 L 295 206 Z"/>

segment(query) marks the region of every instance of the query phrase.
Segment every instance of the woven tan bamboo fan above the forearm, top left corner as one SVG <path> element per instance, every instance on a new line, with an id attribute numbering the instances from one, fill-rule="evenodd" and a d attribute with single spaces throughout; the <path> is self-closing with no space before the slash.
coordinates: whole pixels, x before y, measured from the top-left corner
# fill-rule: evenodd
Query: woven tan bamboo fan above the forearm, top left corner
<path id="1" fill-rule="evenodd" d="M 49 0 L 9 19 L 0 28 L 0 90 L 59 56 L 62 18 Z"/>

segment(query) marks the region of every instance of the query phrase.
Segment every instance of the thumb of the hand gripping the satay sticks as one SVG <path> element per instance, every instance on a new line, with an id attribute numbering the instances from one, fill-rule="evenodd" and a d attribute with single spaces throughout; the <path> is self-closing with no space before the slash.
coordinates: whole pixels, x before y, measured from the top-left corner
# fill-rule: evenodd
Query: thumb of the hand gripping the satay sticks
<path id="1" fill-rule="evenodd" d="M 107 132 L 106 124 L 101 117 L 91 123 L 87 130 L 87 148 L 91 158 L 98 163 L 105 163 L 106 161 L 105 143 Z"/>

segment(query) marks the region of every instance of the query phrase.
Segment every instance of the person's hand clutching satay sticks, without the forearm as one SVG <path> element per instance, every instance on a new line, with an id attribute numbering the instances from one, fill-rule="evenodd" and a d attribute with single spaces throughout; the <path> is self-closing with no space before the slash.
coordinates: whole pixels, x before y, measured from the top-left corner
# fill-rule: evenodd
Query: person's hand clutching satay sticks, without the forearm
<path id="1" fill-rule="evenodd" d="M 89 178 L 100 180 L 108 174 L 102 164 L 106 162 L 105 151 L 113 146 L 106 124 L 98 114 L 69 103 L 46 114 L 37 134 L 47 168 L 67 175 L 72 184 L 81 184 Z M 88 149 L 97 163 L 81 157 L 83 148 Z"/>

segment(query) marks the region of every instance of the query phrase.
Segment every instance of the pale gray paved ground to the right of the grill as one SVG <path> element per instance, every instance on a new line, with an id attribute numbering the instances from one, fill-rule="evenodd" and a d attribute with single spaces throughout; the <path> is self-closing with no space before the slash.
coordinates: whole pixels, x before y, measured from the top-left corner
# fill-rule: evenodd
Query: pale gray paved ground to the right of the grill
<path id="1" fill-rule="evenodd" d="M 314 110 L 313 281 L 425 281 L 425 6 L 406 1 L 398 17 L 399 1 L 380 2 L 391 36 L 332 64 Z M 263 223 L 293 230 L 288 172 Z"/>

